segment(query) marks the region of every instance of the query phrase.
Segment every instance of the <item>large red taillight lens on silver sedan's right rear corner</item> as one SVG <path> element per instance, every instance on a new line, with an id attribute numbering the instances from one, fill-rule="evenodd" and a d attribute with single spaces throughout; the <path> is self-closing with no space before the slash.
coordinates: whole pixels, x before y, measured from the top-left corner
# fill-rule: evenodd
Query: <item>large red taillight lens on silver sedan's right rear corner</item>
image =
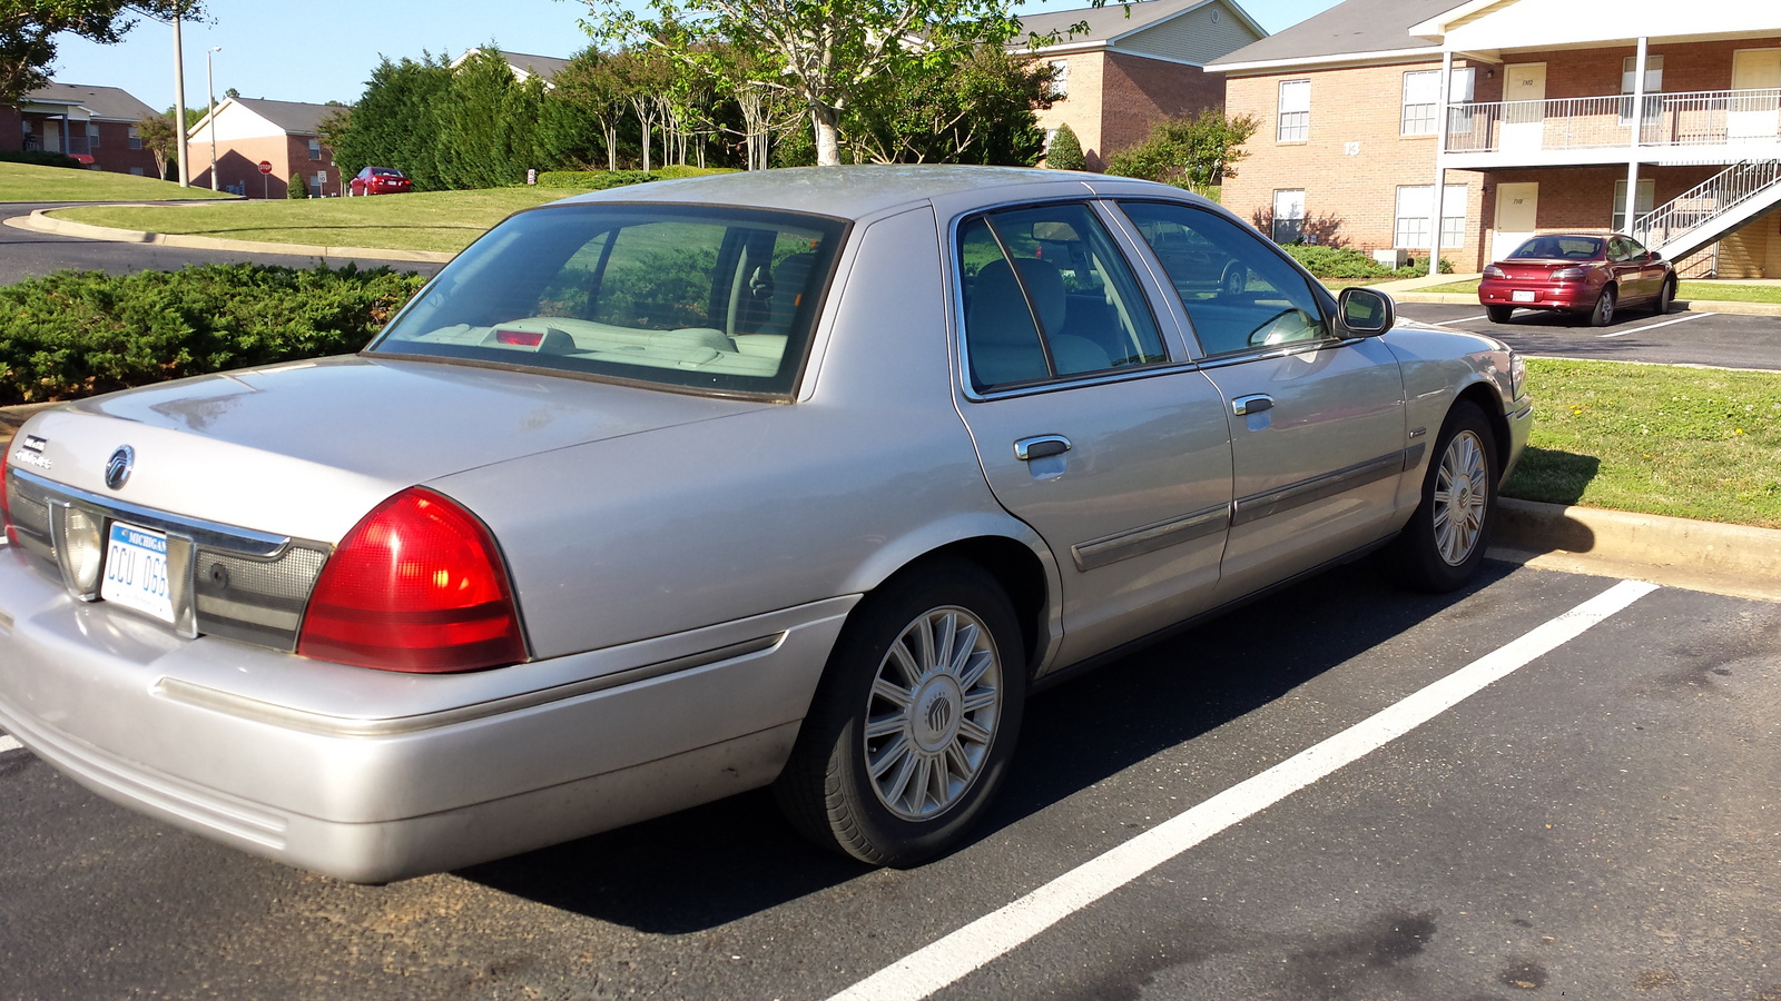
<path id="1" fill-rule="evenodd" d="M 390 497 L 322 566 L 297 654 L 426 673 L 524 661 L 520 616 L 493 536 L 431 490 Z"/>

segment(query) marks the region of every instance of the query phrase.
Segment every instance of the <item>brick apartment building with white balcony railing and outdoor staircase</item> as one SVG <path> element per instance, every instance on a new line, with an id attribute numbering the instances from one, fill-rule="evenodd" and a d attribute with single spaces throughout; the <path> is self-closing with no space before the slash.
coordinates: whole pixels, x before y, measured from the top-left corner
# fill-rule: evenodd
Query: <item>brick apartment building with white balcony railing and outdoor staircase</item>
<path id="1" fill-rule="evenodd" d="M 1478 271 L 1621 230 L 1685 274 L 1781 276 L 1774 4 L 1346 0 L 1209 69 L 1261 121 L 1224 203 L 1275 239 L 1425 258 L 1439 233 Z"/>

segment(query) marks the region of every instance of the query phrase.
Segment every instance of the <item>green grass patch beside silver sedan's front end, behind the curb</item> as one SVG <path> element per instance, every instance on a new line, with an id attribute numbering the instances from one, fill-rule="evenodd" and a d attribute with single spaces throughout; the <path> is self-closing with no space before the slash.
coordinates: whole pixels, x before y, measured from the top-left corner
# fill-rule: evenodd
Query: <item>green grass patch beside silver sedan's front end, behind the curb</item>
<path id="1" fill-rule="evenodd" d="M 1781 372 L 1528 360 L 1505 497 L 1781 527 Z"/>

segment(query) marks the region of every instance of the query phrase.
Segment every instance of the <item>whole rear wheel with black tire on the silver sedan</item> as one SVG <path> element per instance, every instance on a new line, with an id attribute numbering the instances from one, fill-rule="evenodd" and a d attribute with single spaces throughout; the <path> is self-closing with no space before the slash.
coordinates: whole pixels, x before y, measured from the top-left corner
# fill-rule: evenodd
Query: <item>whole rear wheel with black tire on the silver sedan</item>
<path id="1" fill-rule="evenodd" d="M 1008 771 L 1026 657 L 1006 591 L 947 559 L 848 616 L 773 785 L 805 837 L 874 866 L 953 850 Z"/>

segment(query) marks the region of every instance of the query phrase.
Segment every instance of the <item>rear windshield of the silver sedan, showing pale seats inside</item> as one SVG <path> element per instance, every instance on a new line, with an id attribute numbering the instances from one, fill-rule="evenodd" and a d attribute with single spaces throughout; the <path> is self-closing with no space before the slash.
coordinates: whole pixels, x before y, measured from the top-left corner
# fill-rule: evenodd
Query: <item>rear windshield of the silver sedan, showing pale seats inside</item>
<path id="1" fill-rule="evenodd" d="M 787 395 L 842 223 L 675 205 L 522 212 L 369 351 Z"/>

